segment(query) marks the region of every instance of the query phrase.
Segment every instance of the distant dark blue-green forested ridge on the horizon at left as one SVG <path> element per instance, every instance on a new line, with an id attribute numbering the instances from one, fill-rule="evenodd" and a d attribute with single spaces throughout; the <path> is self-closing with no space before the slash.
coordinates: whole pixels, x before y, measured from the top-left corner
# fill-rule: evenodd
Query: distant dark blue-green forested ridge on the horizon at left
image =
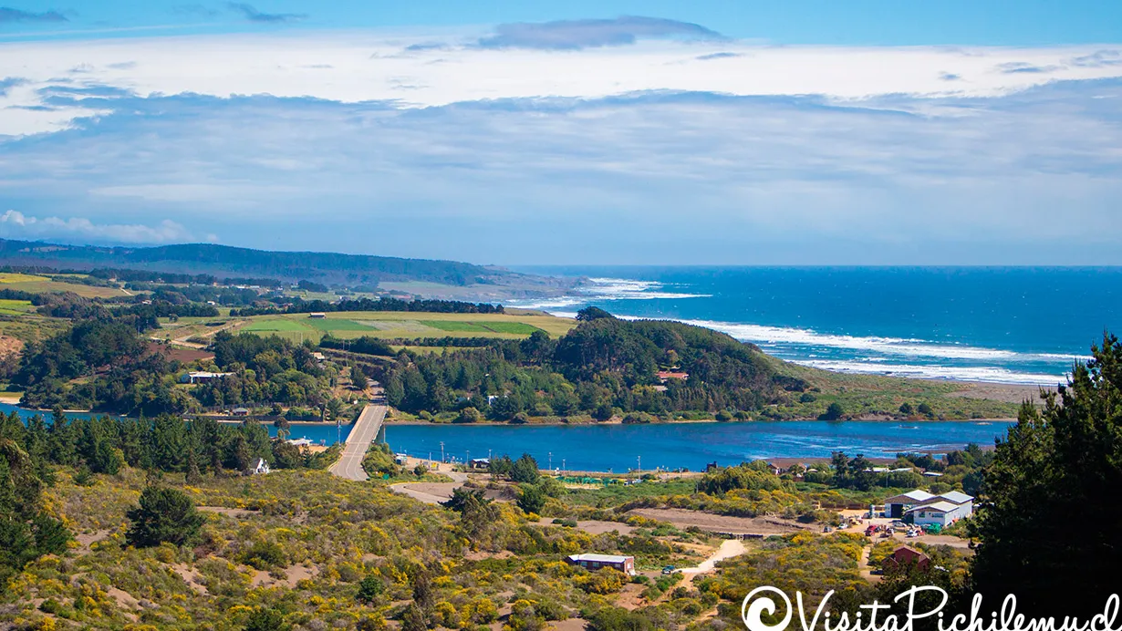
<path id="1" fill-rule="evenodd" d="M 103 248 L 0 239 L 0 262 L 76 270 L 108 267 L 348 285 L 408 280 L 454 286 L 506 285 L 536 278 L 456 261 L 331 252 L 275 252 L 212 243 Z"/>

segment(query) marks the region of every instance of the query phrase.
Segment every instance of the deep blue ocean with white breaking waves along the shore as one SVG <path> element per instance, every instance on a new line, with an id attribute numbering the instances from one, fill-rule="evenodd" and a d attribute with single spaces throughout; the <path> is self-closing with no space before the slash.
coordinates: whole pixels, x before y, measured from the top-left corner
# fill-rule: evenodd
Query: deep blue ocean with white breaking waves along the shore
<path id="1" fill-rule="evenodd" d="M 508 306 L 679 319 L 840 372 L 1056 384 L 1122 331 L 1122 268 L 519 269 L 592 281 Z"/>

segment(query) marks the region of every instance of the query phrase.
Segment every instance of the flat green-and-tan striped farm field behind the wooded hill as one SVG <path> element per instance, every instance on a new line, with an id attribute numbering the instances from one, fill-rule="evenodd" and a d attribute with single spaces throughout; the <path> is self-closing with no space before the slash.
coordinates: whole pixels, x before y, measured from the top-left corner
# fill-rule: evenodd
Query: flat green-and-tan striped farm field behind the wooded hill
<path id="1" fill-rule="evenodd" d="M 279 335 L 297 341 L 319 340 L 325 333 L 343 338 L 368 335 L 384 340 L 448 336 L 516 340 L 535 331 L 560 337 L 574 325 L 572 319 L 537 313 L 339 312 L 329 313 L 323 318 L 312 318 L 307 314 L 257 316 L 249 318 L 238 331 Z"/>

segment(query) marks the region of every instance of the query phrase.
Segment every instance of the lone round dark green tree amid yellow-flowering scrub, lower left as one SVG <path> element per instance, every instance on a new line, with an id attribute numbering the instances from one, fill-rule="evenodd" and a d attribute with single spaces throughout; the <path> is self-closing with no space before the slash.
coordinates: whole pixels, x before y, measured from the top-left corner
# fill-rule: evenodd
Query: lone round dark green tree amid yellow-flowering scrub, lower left
<path id="1" fill-rule="evenodd" d="M 140 505 L 126 516 L 132 521 L 126 538 L 138 548 L 191 544 L 206 521 L 186 493 L 166 486 L 147 486 L 140 493 Z"/>

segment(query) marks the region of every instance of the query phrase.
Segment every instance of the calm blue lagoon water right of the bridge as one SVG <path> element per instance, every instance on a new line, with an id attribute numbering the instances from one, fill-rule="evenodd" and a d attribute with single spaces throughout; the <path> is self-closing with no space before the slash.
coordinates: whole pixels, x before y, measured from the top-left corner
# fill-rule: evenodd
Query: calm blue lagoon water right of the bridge
<path id="1" fill-rule="evenodd" d="M 683 423 L 599 426 L 389 425 L 386 440 L 397 453 L 463 461 L 528 453 L 543 468 L 623 472 L 689 467 L 697 471 L 773 457 L 829 458 L 835 451 L 853 456 L 892 457 L 901 452 L 942 452 L 969 443 L 992 445 L 1010 421 L 824 420 Z M 552 456 L 550 455 L 552 454 Z M 562 463 L 562 461 L 564 461 Z M 641 462 L 640 462 L 641 461 Z"/>

